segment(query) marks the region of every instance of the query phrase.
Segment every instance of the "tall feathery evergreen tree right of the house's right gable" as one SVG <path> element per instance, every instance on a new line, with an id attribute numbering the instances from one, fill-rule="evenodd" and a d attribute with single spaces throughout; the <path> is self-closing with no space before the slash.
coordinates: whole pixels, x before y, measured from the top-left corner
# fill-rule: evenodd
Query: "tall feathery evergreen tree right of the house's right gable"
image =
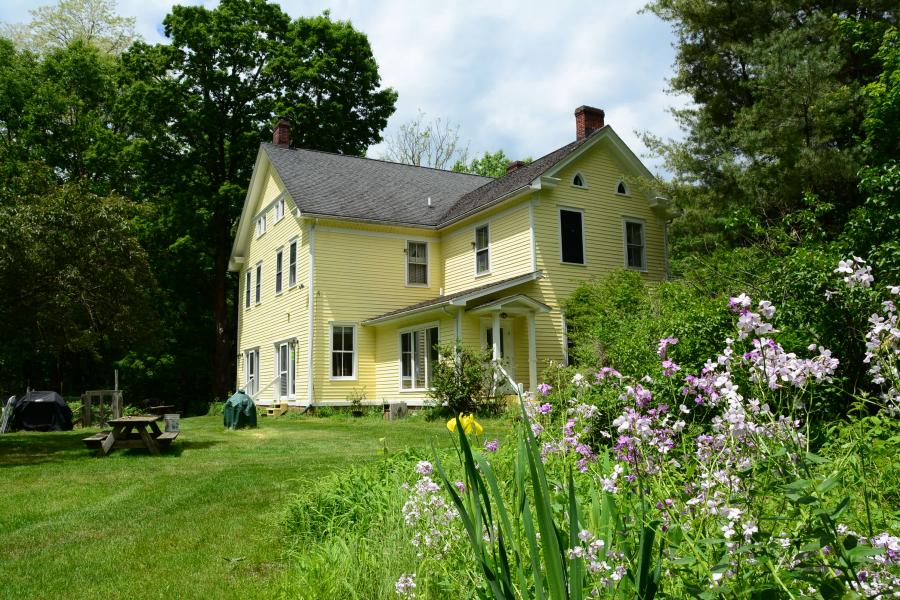
<path id="1" fill-rule="evenodd" d="M 674 111 L 684 141 L 648 136 L 684 209 L 673 254 L 717 245 L 777 252 L 838 236 L 864 199 L 861 98 L 878 77 L 876 40 L 896 23 L 895 3 L 753 1 L 734 10 L 658 0 L 648 8 L 678 39 L 671 89 L 694 101 Z"/>

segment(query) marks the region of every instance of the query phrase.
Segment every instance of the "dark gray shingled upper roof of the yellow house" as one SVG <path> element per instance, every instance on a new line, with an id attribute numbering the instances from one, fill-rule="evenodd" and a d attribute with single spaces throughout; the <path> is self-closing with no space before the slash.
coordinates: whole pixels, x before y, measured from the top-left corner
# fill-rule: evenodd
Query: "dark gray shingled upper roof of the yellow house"
<path id="1" fill-rule="evenodd" d="M 262 147 L 301 212 L 434 227 L 529 186 L 598 131 L 500 179 L 268 143 Z"/>

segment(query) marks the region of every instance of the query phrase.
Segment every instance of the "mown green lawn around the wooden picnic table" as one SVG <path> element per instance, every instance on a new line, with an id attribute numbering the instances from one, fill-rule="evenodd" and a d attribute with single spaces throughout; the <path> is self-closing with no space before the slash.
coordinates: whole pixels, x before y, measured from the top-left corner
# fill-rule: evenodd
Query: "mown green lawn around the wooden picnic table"
<path id="1" fill-rule="evenodd" d="M 288 416 L 224 431 L 194 417 L 159 457 L 95 458 L 81 443 L 94 429 L 0 436 L 0 598 L 278 595 L 285 500 L 385 444 L 447 444 L 443 427 Z"/>

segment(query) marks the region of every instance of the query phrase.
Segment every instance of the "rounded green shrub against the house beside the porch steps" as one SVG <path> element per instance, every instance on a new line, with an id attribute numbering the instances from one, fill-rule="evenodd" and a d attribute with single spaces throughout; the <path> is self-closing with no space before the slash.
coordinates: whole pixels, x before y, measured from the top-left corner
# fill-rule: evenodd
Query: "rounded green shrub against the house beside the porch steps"
<path id="1" fill-rule="evenodd" d="M 483 413 L 491 410 L 493 369 L 490 353 L 460 343 L 438 348 L 438 361 L 431 373 L 428 397 L 439 415 Z"/>

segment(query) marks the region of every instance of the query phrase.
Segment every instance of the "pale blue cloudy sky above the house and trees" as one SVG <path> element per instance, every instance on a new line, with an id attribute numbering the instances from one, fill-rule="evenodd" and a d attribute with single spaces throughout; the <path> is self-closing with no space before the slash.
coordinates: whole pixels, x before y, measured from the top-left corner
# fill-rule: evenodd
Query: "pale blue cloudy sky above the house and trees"
<path id="1" fill-rule="evenodd" d="M 666 93 L 674 36 L 668 24 L 639 11 L 646 0 L 282 0 L 292 17 L 330 10 L 364 32 L 382 83 L 397 90 L 397 111 L 384 136 L 416 118 L 459 127 L 470 157 L 502 149 L 512 159 L 538 158 L 575 138 L 575 108 L 602 108 L 606 123 L 654 171 L 637 132 L 678 138 L 669 109 L 684 98 Z M 0 21 L 26 22 L 52 0 L 0 2 Z M 187 2 L 185 2 L 187 3 Z M 215 2 L 202 3 L 213 7 Z M 162 42 L 172 0 L 119 0 L 148 42 Z M 384 153 L 382 145 L 369 156 Z"/>

